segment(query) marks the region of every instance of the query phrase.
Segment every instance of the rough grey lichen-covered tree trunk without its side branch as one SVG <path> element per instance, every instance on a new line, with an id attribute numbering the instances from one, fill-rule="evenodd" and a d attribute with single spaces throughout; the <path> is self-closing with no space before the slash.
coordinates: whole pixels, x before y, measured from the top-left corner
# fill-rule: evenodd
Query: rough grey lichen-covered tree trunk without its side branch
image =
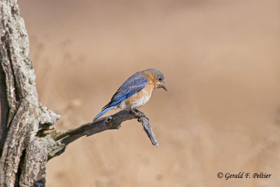
<path id="1" fill-rule="evenodd" d="M 47 162 L 45 148 L 35 136 L 38 124 L 55 123 L 59 116 L 38 103 L 27 31 L 17 1 L 0 2 L 0 185 L 32 186 L 45 177 L 42 168 Z"/>

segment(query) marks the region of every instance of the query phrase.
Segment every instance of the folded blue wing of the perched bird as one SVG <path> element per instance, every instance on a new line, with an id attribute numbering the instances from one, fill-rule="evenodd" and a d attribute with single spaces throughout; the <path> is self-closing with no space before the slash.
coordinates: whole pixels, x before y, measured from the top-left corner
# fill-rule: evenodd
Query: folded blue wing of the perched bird
<path id="1" fill-rule="evenodd" d="M 134 74 L 130 76 L 130 78 L 123 83 L 123 85 L 118 88 L 118 91 L 111 98 L 111 102 L 106 104 L 103 109 L 108 108 L 110 106 L 116 106 L 120 104 L 124 99 L 134 95 L 135 93 L 142 90 L 148 83 L 148 80 L 144 76 L 139 76 L 138 74 Z"/>

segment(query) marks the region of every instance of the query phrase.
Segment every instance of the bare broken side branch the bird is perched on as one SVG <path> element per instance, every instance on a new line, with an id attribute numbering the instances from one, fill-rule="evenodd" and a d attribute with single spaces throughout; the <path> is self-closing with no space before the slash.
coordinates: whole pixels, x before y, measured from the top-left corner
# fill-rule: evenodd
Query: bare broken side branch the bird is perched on
<path id="1" fill-rule="evenodd" d="M 85 123 L 80 125 L 79 127 L 64 130 L 62 132 L 50 133 L 50 137 L 56 144 L 54 144 L 53 149 L 49 150 L 48 159 L 53 158 L 57 155 L 60 155 L 65 151 L 65 148 L 68 144 L 75 141 L 76 139 L 83 136 L 91 136 L 92 134 L 96 134 L 102 132 L 104 130 L 113 130 L 119 129 L 120 124 L 126 120 L 132 120 L 137 118 L 140 123 L 142 123 L 146 134 L 153 146 L 158 147 L 158 141 L 155 139 L 155 134 L 153 133 L 152 126 L 149 123 L 146 115 L 137 111 L 136 113 L 132 113 L 131 111 L 119 111 L 118 113 L 113 114 L 112 116 L 108 116 L 105 118 L 100 118 L 94 122 Z"/>

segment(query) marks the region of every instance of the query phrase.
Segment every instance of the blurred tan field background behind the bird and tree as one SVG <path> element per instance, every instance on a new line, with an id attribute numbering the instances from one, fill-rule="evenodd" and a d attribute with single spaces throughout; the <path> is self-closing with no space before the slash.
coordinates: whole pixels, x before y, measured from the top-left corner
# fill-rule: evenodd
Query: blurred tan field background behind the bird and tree
<path id="1" fill-rule="evenodd" d="M 168 92 L 155 90 L 141 108 L 158 148 L 126 121 L 50 160 L 47 186 L 280 185 L 279 1 L 19 4 L 39 100 L 62 116 L 57 130 L 90 122 L 136 71 L 167 79 Z"/>

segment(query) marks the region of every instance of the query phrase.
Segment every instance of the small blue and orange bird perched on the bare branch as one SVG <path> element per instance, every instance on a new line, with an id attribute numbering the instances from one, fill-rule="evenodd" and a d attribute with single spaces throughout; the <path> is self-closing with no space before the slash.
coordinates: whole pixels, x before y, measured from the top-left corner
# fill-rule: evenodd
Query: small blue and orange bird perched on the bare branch
<path id="1" fill-rule="evenodd" d="M 127 78 L 113 95 L 111 101 L 102 108 L 102 111 L 92 121 L 97 120 L 111 109 L 120 108 L 135 113 L 135 109 L 148 102 L 155 88 L 163 88 L 167 91 L 164 74 L 155 68 L 138 71 Z"/>

